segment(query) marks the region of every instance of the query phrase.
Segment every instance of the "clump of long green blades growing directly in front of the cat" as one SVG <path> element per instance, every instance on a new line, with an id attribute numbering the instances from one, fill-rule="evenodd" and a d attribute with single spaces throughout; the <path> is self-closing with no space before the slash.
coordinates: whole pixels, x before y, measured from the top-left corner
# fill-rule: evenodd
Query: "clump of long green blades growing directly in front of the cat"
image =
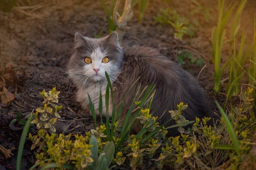
<path id="1" fill-rule="evenodd" d="M 106 95 L 105 95 L 105 101 L 106 101 L 106 122 L 103 122 L 102 119 L 102 96 L 100 95 L 99 98 L 99 116 L 101 118 L 101 125 L 105 124 L 106 125 L 106 131 L 105 131 L 105 135 L 106 141 L 113 141 L 114 137 L 115 137 L 115 132 L 114 132 L 114 128 L 113 128 L 113 124 L 114 123 L 121 123 L 120 120 L 120 115 L 121 112 L 124 111 L 122 110 L 122 107 L 124 105 L 124 100 L 125 97 L 123 99 L 123 101 L 121 102 L 121 105 L 119 106 L 119 108 L 117 110 L 115 110 L 115 102 L 113 100 L 113 89 L 110 83 L 110 79 L 108 77 L 108 73 L 106 72 L 106 78 L 108 80 L 108 85 L 106 88 Z M 136 83 L 136 82 L 135 82 Z M 134 84 L 135 84 L 134 83 Z M 130 90 L 132 89 L 133 85 L 130 87 Z M 139 116 L 139 113 L 141 112 L 141 109 L 143 108 L 151 108 L 151 104 L 153 101 L 153 97 L 155 94 L 155 90 L 154 90 L 155 86 L 154 84 L 151 84 L 150 86 L 146 86 L 145 88 L 141 88 L 141 86 L 139 86 L 139 88 L 137 89 L 137 92 L 135 93 L 135 97 L 133 99 L 132 104 L 130 105 L 130 108 L 128 110 L 128 112 L 126 113 L 126 117 L 122 123 L 121 126 L 119 126 L 122 130 L 120 132 L 120 134 L 118 135 L 118 138 L 120 139 L 118 144 L 115 146 L 115 154 L 120 151 L 120 149 L 124 146 L 125 142 L 127 141 L 128 136 L 131 133 L 131 130 L 133 128 L 133 126 L 135 125 L 135 123 L 138 121 L 137 117 Z M 130 93 L 130 90 L 128 91 L 128 93 Z M 128 93 L 126 94 L 126 96 L 128 95 Z M 111 117 L 111 122 L 110 122 L 110 117 L 108 114 L 108 107 L 109 107 L 109 99 L 111 97 L 111 101 L 112 101 L 112 106 L 113 106 L 113 110 L 112 110 L 112 117 Z M 96 112 L 94 109 L 94 105 L 92 100 L 90 99 L 89 96 L 89 101 L 90 101 L 90 108 L 91 108 L 91 113 L 92 113 L 92 117 L 94 120 L 94 125 L 96 128 Z M 139 102 L 137 102 L 139 101 Z M 166 113 L 168 114 L 168 113 Z M 163 113 L 164 115 L 164 113 Z M 160 119 L 161 117 L 159 117 L 158 119 Z M 153 119 L 153 117 L 151 117 L 150 119 Z M 155 135 L 157 132 L 159 132 L 159 130 L 161 130 L 163 128 L 163 126 L 165 126 L 168 122 L 170 122 L 172 119 L 166 120 L 166 122 L 162 125 L 157 126 L 157 128 L 155 128 L 153 131 L 149 132 L 149 129 L 152 128 L 155 124 L 150 124 L 150 121 L 146 124 L 146 126 L 144 126 L 140 132 L 135 136 L 136 139 L 140 139 L 141 137 L 144 136 L 144 138 L 141 140 L 140 143 L 144 143 L 145 141 L 147 141 L 148 139 L 150 139 L 150 137 L 152 137 L 153 135 Z M 151 121 L 153 122 L 153 121 Z M 166 127 L 165 129 L 169 129 L 169 128 L 175 128 L 175 127 L 181 127 L 181 126 L 186 126 L 188 124 L 193 123 L 194 121 L 186 121 L 180 124 L 176 124 L 170 127 Z M 146 136 L 145 136 L 146 135 Z M 128 147 L 125 148 L 125 150 L 127 150 Z"/>

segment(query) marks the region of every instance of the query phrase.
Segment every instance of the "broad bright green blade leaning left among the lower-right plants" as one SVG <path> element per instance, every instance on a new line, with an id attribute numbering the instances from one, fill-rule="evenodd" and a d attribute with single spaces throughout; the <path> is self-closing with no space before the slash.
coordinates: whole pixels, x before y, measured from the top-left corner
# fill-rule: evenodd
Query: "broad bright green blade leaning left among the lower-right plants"
<path id="1" fill-rule="evenodd" d="M 234 150 L 236 151 L 236 154 L 238 156 L 240 156 L 239 143 L 238 143 L 238 139 L 236 137 L 234 127 L 232 126 L 232 124 L 231 124 L 229 118 L 227 117 L 226 113 L 224 112 L 223 108 L 221 108 L 220 104 L 217 101 L 215 101 L 215 103 L 216 103 L 218 109 L 220 110 L 220 114 L 222 115 L 222 117 L 225 121 L 225 125 L 227 127 L 227 131 L 229 132 L 229 136 L 230 136 L 231 142 L 233 144 Z"/>

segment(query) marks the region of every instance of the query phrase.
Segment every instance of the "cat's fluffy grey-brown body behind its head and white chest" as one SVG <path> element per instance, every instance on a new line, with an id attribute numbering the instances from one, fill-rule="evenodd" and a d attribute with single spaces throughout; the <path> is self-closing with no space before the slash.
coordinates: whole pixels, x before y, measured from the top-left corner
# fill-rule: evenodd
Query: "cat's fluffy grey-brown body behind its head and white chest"
<path id="1" fill-rule="evenodd" d="M 207 116 L 208 101 L 193 75 L 156 49 L 132 46 L 124 48 L 123 51 L 125 61 L 118 77 L 120 83 L 116 84 L 119 89 L 116 99 L 123 99 L 131 84 L 138 79 L 126 97 L 124 110 L 128 110 L 140 85 L 143 89 L 154 83 L 156 92 L 151 113 L 155 113 L 155 116 L 162 115 L 166 110 L 176 110 L 180 102 L 188 104 L 188 108 L 184 111 L 186 119 L 193 120 L 195 117 Z M 121 102 L 119 99 L 117 99 L 117 106 Z M 159 122 L 162 124 L 168 119 L 171 119 L 171 116 L 165 113 Z M 171 121 L 168 125 L 171 126 L 174 123 Z M 177 131 L 173 129 L 170 133 L 176 135 Z"/>

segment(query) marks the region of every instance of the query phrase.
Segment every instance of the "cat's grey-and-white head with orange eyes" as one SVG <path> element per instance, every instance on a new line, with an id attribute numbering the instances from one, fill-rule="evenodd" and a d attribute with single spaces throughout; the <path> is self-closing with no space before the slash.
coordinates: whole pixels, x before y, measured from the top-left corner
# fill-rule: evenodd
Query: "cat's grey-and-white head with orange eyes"
<path id="1" fill-rule="evenodd" d="M 105 71 L 113 82 L 121 71 L 123 61 L 124 54 L 116 32 L 100 39 L 76 33 L 68 73 L 76 85 L 106 83 Z"/>

